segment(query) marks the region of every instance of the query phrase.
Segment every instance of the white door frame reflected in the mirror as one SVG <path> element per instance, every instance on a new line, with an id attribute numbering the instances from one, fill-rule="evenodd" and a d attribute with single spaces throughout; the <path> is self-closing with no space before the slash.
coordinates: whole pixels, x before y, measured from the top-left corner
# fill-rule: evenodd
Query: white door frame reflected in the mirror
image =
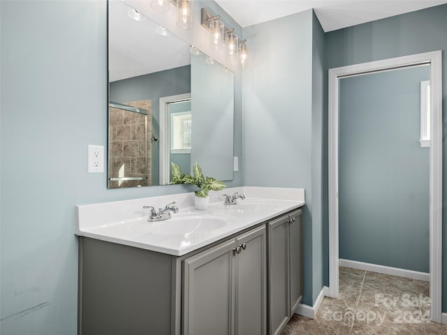
<path id="1" fill-rule="evenodd" d="M 170 183 L 170 117 L 169 108 L 170 103 L 177 103 L 179 101 L 191 100 L 191 93 L 177 94 L 175 96 L 163 96 L 159 100 L 159 173 L 160 185 Z"/>

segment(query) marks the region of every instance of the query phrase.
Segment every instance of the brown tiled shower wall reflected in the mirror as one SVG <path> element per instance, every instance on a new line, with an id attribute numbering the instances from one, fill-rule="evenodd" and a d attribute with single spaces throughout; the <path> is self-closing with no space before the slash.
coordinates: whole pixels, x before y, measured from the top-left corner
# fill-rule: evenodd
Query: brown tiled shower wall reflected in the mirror
<path id="1" fill-rule="evenodd" d="M 143 177 L 143 179 L 109 180 L 109 188 L 147 186 L 152 180 L 152 102 L 144 100 L 124 104 L 147 110 L 148 114 L 146 117 L 136 112 L 109 107 L 108 177 Z"/>

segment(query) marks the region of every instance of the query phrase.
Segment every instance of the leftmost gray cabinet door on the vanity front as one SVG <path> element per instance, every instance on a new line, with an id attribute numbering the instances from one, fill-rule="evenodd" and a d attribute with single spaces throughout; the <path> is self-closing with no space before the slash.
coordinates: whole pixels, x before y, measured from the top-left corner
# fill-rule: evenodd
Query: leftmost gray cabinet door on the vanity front
<path id="1" fill-rule="evenodd" d="M 235 240 L 184 260 L 184 335 L 234 334 Z"/>

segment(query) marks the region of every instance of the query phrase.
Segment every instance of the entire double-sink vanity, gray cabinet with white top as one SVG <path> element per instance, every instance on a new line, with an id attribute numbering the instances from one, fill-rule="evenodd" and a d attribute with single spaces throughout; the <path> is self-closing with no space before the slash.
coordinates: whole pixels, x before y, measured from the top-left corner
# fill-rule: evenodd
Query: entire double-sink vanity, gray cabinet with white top
<path id="1" fill-rule="evenodd" d="M 302 297 L 304 190 L 224 191 L 246 199 L 78 206 L 79 334 L 280 334 Z M 179 215 L 147 222 L 143 205 L 172 201 Z"/>

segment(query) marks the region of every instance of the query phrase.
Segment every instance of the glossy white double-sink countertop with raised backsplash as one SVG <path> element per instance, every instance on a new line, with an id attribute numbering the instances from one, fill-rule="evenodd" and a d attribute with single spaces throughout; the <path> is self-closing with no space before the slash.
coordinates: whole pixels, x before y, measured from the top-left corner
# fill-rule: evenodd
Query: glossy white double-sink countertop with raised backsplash
<path id="1" fill-rule="evenodd" d="M 224 205 L 223 194 L 235 192 L 245 200 Z M 77 206 L 75 234 L 180 256 L 305 204 L 302 188 L 239 187 L 212 193 L 205 211 L 193 207 L 193 193 Z M 147 221 L 142 206 L 162 208 L 173 201 L 178 213 L 166 221 Z"/>

